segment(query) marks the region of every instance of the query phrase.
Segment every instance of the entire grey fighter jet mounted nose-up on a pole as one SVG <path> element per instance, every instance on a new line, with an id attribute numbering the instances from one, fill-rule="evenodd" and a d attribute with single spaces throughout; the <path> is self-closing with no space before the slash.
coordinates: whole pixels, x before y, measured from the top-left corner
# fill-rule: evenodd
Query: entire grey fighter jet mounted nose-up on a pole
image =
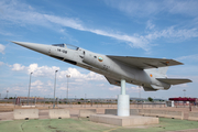
<path id="1" fill-rule="evenodd" d="M 172 85 L 191 82 L 186 78 L 168 78 L 168 66 L 183 65 L 174 59 L 97 54 L 69 44 L 12 42 L 59 61 L 103 75 L 111 85 L 125 82 L 142 86 L 145 91 L 167 90 Z"/>

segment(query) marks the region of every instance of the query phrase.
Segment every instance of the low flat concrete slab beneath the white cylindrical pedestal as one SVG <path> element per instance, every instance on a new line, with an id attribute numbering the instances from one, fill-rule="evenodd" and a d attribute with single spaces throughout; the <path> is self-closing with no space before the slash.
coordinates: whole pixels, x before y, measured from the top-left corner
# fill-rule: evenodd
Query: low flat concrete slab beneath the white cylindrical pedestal
<path id="1" fill-rule="evenodd" d="M 158 118 L 142 116 L 118 117 L 112 114 L 92 114 L 89 117 L 89 120 L 94 122 L 114 124 L 120 127 L 146 125 L 158 123 Z"/>

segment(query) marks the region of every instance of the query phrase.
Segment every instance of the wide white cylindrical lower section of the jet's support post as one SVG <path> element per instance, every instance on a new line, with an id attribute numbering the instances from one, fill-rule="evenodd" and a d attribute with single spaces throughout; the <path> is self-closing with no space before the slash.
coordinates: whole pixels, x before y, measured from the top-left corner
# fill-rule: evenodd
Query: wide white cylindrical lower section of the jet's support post
<path id="1" fill-rule="evenodd" d="M 119 117 L 129 117 L 130 116 L 130 99 L 129 95 L 119 95 L 118 96 L 118 113 Z"/>

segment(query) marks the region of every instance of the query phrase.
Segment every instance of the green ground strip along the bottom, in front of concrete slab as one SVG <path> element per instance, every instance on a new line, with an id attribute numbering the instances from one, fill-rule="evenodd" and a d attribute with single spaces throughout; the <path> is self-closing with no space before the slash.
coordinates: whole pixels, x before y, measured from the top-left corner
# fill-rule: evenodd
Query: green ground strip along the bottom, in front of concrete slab
<path id="1" fill-rule="evenodd" d="M 116 127 L 88 119 L 46 119 L 0 121 L 0 132 L 163 132 L 198 129 L 197 121 L 160 118 L 160 124 Z"/>

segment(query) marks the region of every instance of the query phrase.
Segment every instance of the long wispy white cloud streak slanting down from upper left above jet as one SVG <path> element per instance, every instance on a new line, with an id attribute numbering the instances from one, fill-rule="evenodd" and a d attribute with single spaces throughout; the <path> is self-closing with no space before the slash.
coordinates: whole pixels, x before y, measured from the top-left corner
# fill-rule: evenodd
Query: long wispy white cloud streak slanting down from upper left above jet
<path id="1" fill-rule="evenodd" d="M 0 6 L 3 10 L 3 14 L 0 20 L 7 20 L 14 22 L 16 24 L 35 24 L 47 28 L 54 28 L 54 25 L 58 26 L 67 26 L 79 31 L 87 31 L 98 35 L 113 37 L 119 41 L 124 41 L 129 43 L 132 47 L 143 48 L 145 51 L 148 50 L 147 41 L 141 35 L 128 35 L 128 34 L 119 34 L 117 32 L 109 32 L 99 29 L 89 29 L 87 28 L 79 19 L 74 18 L 61 18 L 57 15 L 44 14 L 40 12 L 35 12 L 34 10 L 30 10 L 26 4 L 21 4 L 15 1 L 12 2 L 0 2 Z M 21 8 L 22 7 L 22 8 Z M 61 30 L 63 32 L 63 30 Z"/>

